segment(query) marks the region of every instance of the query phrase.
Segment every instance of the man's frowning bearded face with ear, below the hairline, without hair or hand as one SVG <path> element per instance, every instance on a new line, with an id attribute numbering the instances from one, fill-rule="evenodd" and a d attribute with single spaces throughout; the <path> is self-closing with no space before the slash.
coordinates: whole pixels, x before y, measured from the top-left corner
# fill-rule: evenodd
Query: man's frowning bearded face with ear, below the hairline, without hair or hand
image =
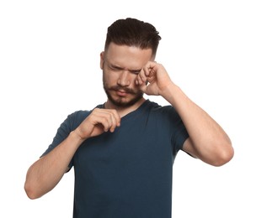
<path id="1" fill-rule="evenodd" d="M 141 100 L 143 92 L 135 80 L 149 60 L 152 60 L 152 49 L 109 44 L 109 48 L 100 54 L 104 91 L 109 103 L 126 107 Z"/>

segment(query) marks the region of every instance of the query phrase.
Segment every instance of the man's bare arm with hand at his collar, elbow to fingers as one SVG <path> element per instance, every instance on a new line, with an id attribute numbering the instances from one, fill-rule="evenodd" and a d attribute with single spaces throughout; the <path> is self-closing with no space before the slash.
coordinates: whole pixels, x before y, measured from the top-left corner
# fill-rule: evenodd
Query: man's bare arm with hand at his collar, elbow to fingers
<path id="1" fill-rule="evenodd" d="M 114 132 L 119 126 L 120 116 L 115 110 L 95 108 L 62 143 L 30 166 L 24 184 L 29 198 L 39 198 L 58 184 L 85 140 L 103 132 Z"/>

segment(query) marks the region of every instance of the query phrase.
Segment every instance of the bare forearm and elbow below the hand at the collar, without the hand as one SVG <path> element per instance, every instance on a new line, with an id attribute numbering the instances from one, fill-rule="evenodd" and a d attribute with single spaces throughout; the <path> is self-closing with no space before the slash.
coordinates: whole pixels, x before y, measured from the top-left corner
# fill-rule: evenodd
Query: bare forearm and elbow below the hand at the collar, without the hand
<path id="1" fill-rule="evenodd" d="M 29 167 L 24 189 L 30 199 L 40 198 L 58 184 L 81 143 L 83 140 L 72 131 L 62 143 Z"/>

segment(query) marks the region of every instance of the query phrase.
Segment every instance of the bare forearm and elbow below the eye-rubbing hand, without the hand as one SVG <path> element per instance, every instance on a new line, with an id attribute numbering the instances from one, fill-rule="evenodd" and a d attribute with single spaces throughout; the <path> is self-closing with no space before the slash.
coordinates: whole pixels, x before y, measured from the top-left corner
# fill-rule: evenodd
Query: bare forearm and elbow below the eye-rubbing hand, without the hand
<path id="1" fill-rule="evenodd" d="M 168 86 L 162 95 L 174 106 L 189 132 L 189 138 L 183 147 L 185 152 L 214 166 L 221 166 L 231 160 L 232 143 L 215 120 L 191 101 L 178 86 Z"/>

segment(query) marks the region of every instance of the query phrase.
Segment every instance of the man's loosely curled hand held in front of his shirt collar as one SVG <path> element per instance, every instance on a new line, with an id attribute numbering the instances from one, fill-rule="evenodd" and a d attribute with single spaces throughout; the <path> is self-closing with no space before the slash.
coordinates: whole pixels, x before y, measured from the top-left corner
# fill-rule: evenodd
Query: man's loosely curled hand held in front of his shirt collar
<path id="1" fill-rule="evenodd" d="M 120 127 L 120 116 L 115 110 L 95 108 L 75 132 L 85 140 L 103 132 L 114 132 L 116 127 Z"/>

